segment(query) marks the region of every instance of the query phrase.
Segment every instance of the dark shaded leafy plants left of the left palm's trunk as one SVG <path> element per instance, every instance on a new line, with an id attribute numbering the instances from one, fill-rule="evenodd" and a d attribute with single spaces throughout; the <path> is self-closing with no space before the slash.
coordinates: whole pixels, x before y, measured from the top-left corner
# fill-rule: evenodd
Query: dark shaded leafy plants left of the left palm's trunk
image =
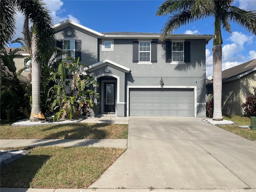
<path id="1" fill-rule="evenodd" d="M 13 117 L 29 116 L 29 86 L 21 83 L 18 76 L 26 67 L 16 72 L 14 58 L 19 56 L 19 48 L 1 51 L 1 117 L 10 120 Z"/>

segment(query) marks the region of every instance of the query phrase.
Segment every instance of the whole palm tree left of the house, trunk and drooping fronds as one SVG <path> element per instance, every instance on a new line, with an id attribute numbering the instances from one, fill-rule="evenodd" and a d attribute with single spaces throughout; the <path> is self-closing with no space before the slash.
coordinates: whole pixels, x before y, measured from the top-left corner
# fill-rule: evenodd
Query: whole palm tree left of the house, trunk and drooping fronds
<path id="1" fill-rule="evenodd" d="M 42 0 L 1 0 L 0 1 L 0 49 L 4 49 L 14 36 L 16 11 L 25 16 L 24 35 L 29 33 L 28 21 L 32 22 L 34 34 L 32 50 L 32 110 L 30 120 L 44 118 L 40 111 L 40 63 L 54 48 L 52 18 Z M 25 35 L 25 40 L 28 36 Z M 27 46 L 29 46 L 27 44 Z M 38 75 L 39 74 L 39 75 Z M 35 118 L 35 117 L 36 118 Z"/>

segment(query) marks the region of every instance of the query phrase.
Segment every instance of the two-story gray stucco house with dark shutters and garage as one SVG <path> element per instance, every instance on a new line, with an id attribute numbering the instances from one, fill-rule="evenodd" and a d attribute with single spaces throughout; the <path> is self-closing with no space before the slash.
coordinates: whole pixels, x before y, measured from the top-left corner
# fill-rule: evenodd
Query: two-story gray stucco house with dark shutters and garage
<path id="1" fill-rule="evenodd" d="M 80 57 L 100 85 L 97 114 L 206 116 L 206 44 L 212 35 L 100 33 L 65 20 L 54 25 L 56 46 Z M 63 56 L 65 57 L 65 56 Z M 59 58 L 63 59 L 63 58 Z"/>

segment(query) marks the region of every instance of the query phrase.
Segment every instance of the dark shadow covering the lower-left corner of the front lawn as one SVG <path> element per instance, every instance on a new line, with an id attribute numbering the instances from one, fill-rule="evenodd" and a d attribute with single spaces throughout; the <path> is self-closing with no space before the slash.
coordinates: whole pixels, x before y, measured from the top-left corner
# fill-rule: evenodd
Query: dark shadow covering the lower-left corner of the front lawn
<path id="1" fill-rule="evenodd" d="M 32 149 L 26 148 L 24 150 Z M 25 155 L 18 160 L 3 166 L 0 170 L 1 188 L 30 188 L 40 168 L 51 158 L 48 155 Z M 20 190 L 22 192 L 22 190 Z"/>

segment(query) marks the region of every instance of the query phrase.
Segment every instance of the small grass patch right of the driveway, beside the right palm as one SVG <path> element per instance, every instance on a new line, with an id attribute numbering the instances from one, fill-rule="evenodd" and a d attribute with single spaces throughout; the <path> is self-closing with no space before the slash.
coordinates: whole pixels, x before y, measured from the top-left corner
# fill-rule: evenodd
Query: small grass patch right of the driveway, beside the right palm
<path id="1" fill-rule="evenodd" d="M 250 118 L 236 116 L 236 115 L 223 115 L 223 119 L 230 120 L 235 122 L 235 125 L 216 125 L 222 129 L 225 129 L 229 132 L 237 134 L 241 137 L 244 137 L 248 140 L 255 141 L 256 140 L 256 130 L 251 130 L 250 128 L 240 128 L 239 125 L 250 125 Z"/>

